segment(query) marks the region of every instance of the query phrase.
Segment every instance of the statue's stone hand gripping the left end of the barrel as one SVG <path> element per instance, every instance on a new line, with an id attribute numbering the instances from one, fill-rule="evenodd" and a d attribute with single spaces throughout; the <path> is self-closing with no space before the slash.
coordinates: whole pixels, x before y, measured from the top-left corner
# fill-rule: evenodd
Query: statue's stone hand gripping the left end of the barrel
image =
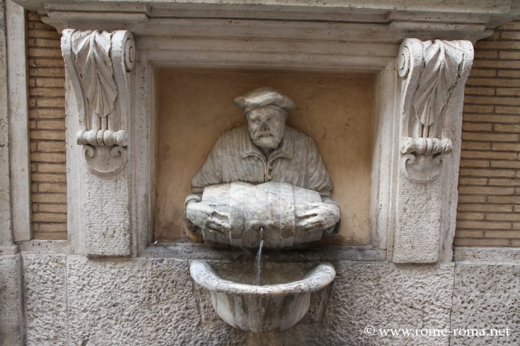
<path id="1" fill-rule="evenodd" d="M 201 229 L 224 233 L 229 228 L 227 213 L 217 211 L 215 205 L 207 202 L 188 202 L 186 204 L 186 217 Z"/>

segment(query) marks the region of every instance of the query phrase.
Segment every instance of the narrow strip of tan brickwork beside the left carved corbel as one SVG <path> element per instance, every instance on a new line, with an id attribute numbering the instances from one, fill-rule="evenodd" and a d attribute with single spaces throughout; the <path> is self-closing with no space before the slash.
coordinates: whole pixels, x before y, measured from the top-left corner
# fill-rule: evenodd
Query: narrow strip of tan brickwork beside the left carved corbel
<path id="1" fill-rule="evenodd" d="M 28 13 L 29 126 L 34 239 L 67 239 L 65 70 L 60 35 Z"/>

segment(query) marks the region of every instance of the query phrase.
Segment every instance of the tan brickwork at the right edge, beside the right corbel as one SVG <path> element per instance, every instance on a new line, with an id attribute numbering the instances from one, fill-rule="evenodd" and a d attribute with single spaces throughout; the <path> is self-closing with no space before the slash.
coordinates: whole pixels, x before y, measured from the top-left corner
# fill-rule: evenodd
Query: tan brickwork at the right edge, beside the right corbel
<path id="1" fill-rule="evenodd" d="M 455 245 L 520 246 L 520 21 L 475 45 Z"/>

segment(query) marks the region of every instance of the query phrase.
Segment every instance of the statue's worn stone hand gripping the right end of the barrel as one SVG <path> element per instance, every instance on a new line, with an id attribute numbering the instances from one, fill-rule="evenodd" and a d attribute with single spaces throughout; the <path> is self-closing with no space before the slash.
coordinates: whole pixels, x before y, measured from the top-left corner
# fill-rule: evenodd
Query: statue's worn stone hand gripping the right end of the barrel
<path id="1" fill-rule="evenodd" d="M 333 203 L 313 203 L 296 210 L 296 228 L 304 231 L 324 230 L 340 220 L 340 209 Z"/>

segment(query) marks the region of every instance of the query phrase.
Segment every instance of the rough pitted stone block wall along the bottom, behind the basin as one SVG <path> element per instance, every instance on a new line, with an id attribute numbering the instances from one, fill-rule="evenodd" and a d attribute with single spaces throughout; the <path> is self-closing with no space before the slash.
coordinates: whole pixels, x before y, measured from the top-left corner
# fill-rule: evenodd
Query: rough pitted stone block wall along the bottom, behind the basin
<path id="1" fill-rule="evenodd" d="M 191 280 L 186 260 L 24 254 L 25 342 L 516 345 L 520 342 L 520 253 L 499 254 L 515 262 L 506 265 L 498 264 L 492 254 L 462 253 L 455 263 L 419 266 L 334 261 L 334 283 L 313 294 L 309 312 L 300 323 L 269 341 L 273 334 L 248 334 L 220 320 L 209 292 Z M 367 335 L 366 327 L 375 328 L 374 334 Z M 385 336 L 381 328 L 509 328 L 511 333 L 501 337 Z"/>

